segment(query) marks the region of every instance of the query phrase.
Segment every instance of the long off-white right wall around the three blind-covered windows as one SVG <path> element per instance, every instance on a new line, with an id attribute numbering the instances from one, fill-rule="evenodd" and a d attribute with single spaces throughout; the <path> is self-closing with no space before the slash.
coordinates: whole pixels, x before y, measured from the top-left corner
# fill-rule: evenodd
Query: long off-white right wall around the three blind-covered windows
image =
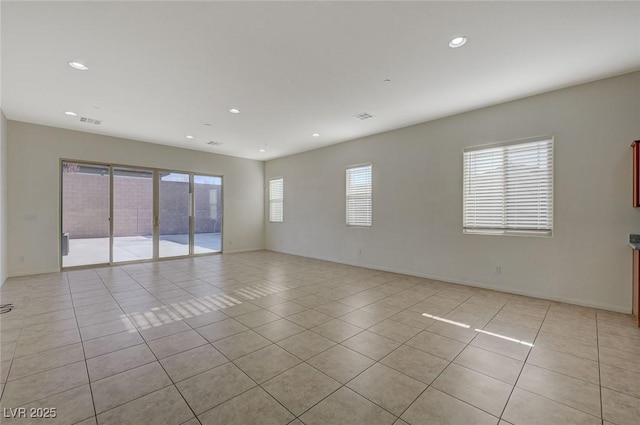
<path id="1" fill-rule="evenodd" d="M 364 124 L 366 125 L 366 124 Z M 554 236 L 462 233 L 462 150 L 555 135 Z M 640 72 L 269 161 L 267 249 L 630 312 L 630 143 Z M 344 173 L 373 164 L 373 228 L 345 227 Z M 361 252 L 361 254 L 359 254 Z M 500 265 L 502 273 L 494 274 Z"/>

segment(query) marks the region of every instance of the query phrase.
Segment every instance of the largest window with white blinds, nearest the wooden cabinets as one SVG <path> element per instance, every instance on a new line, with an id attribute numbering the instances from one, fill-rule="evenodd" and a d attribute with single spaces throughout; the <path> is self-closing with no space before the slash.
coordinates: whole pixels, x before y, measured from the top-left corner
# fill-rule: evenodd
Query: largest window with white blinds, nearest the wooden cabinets
<path id="1" fill-rule="evenodd" d="M 551 236 L 553 137 L 464 150 L 465 233 Z"/>

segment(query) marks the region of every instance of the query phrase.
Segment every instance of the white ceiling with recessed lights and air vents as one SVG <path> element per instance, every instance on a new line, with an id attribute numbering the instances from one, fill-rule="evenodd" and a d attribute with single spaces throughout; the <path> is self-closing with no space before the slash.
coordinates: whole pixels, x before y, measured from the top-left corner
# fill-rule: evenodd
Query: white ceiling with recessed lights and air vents
<path id="1" fill-rule="evenodd" d="M 635 1 L 1 7 L 7 118 L 261 160 L 640 69 Z"/>

